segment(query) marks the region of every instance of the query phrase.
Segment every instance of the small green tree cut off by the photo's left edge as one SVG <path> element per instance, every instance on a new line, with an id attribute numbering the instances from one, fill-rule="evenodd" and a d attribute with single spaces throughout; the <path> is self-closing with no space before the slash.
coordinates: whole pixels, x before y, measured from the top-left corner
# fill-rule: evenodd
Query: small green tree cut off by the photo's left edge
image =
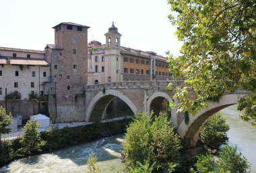
<path id="1" fill-rule="evenodd" d="M 11 125 L 11 112 L 9 114 L 6 114 L 5 108 L 0 106 L 0 147 L 1 147 L 1 134 L 7 134 L 11 131 L 11 129 L 8 128 L 9 125 Z"/>

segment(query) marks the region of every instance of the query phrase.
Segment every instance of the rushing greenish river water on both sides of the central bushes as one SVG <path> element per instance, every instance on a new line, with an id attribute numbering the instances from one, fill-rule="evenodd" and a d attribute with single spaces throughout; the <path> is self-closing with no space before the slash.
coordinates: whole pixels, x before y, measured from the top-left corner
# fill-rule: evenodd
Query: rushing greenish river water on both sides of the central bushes
<path id="1" fill-rule="evenodd" d="M 230 106 L 220 113 L 230 125 L 228 131 L 230 145 L 237 145 L 238 151 L 243 153 L 251 163 L 251 172 L 256 173 L 256 127 L 238 118 L 236 106 Z M 3 173 L 29 172 L 86 172 L 88 155 L 94 151 L 102 172 L 123 172 L 121 164 L 121 142 L 123 135 L 115 135 L 79 145 L 59 149 L 53 153 L 44 153 L 29 158 L 11 162 L 0 168 Z"/>

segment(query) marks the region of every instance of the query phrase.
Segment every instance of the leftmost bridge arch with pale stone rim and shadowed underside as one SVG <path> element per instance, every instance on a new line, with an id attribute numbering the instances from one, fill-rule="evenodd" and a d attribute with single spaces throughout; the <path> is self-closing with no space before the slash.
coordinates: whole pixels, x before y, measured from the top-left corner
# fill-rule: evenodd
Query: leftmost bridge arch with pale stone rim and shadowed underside
<path id="1" fill-rule="evenodd" d="M 105 93 L 102 91 L 98 92 L 96 96 L 90 101 L 88 108 L 86 109 L 86 121 L 96 120 L 97 118 L 102 118 L 104 112 L 108 104 L 115 98 L 118 97 L 123 100 L 129 108 L 135 112 L 137 112 L 137 108 L 135 104 L 125 95 L 117 90 L 106 90 Z M 91 117 L 91 114 L 94 114 L 94 117 Z"/>

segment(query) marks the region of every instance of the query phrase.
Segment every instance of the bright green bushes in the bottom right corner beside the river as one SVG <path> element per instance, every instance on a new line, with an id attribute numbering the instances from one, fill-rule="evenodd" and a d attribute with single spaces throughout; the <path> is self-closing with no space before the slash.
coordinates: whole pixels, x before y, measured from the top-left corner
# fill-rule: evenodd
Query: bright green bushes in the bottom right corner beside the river
<path id="1" fill-rule="evenodd" d="M 231 147 L 228 144 L 224 145 L 220 151 L 218 160 L 213 158 L 213 155 L 197 156 L 195 168 L 191 169 L 192 173 L 248 173 L 250 165 L 247 159 L 241 153 L 236 152 L 237 147 Z"/>

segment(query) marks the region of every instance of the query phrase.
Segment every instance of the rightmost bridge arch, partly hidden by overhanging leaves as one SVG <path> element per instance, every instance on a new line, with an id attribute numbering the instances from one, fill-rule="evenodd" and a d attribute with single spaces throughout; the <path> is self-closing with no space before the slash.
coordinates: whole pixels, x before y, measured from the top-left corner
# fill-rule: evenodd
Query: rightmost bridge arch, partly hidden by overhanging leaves
<path id="1" fill-rule="evenodd" d="M 219 110 L 237 104 L 238 98 L 243 96 L 245 96 L 245 94 L 227 94 L 222 96 L 218 103 L 210 102 L 207 108 L 204 108 L 195 116 L 189 115 L 189 123 L 187 125 L 185 124 L 185 120 L 183 120 L 177 132 L 183 139 L 189 141 L 190 147 L 195 147 L 199 139 L 201 128 L 206 123 L 207 119 Z"/>

